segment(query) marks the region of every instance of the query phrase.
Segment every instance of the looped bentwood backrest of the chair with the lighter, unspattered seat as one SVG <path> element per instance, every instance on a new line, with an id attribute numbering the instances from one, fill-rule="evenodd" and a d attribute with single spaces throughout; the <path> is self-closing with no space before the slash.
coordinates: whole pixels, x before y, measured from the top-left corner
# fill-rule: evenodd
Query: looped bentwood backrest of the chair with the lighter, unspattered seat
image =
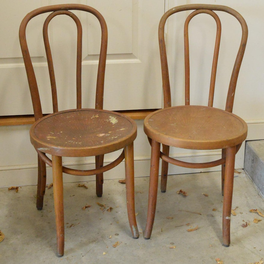
<path id="1" fill-rule="evenodd" d="M 216 76 L 216 70 L 217 70 L 217 61 L 218 61 L 220 36 L 221 36 L 221 22 L 220 22 L 219 17 L 214 11 L 223 11 L 223 12 L 231 14 L 239 21 L 241 25 L 241 28 L 242 28 L 241 43 L 238 49 L 238 53 L 235 59 L 235 64 L 234 64 L 232 75 L 231 75 L 231 79 L 229 82 L 229 89 L 228 89 L 226 107 L 225 107 L 226 111 L 232 112 L 238 73 L 240 70 L 242 58 L 243 58 L 246 43 L 247 43 L 247 34 L 248 34 L 247 24 L 244 18 L 234 9 L 227 7 L 227 6 L 223 6 L 223 5 L 211 5 L 211 4 L 187 4 L 187 5 L 173 7 L 170 10 L 168 10 L 166 13 L 164 13 L 164 15 L 161 17 L 160 24 L 159 24 L 159 30 L 158 30 L 158 38 L 159 38 L 160 55 L 161 55 L 161 71 L 162 71 L 162 82 L 163 82 L 164 108 L 171 107 L 171 91 L 170 91 L 169 70 L 168 70 L 165 38 L 164 38 L 164 27 L 165 27 L 167 18 L 169 16 L 171 16 L 174 13 L 177 13 L 180 11 L 186 11 L 186 10 L 194 10 L 194 11 L 187 16 L 185 20 L 185 24 L 184 24 L 185 105 L 190 104 L 190 61 L 189 61 L 189 37 L 188 37 L 188 25 L 189 25 L 190 20 L 197 14 L 206 13 L 214 18 L 216 25 L 217 25 L 213 63 L 212 63 L 212 70 L 211 70 L 209 99 L 208 99 L 209 107 L 213 106 L 215 76 Z"/>

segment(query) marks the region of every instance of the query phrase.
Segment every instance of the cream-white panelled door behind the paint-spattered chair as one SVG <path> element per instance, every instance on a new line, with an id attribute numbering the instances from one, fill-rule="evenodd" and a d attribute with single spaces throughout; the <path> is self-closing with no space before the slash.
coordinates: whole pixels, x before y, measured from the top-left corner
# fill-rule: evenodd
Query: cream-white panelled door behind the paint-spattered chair
<path id="1" fill-rule="evenodd" d="M 101 12 L 107 22 L 109 38 L 104 109 L 132 110 L 162 107 L 158 23 L 164 13 L 165 0 L 155 1 L 155 4 L 151 0 L 3 0 L 0 10 L 0 116 L 33 113 L 18 40 L 18 29 L 22 18 L 37 7 L 67 2 L 90 5 Z M 51 113 L 50 84 L 41 36 L 43 19 L 44 16 L 32 19 L 27 30 L 27 40 L 32 46 L 31 56 L 40 93 L 44 99 L 44 113 Z M 53 59 L 58 93 L 64 94 L 63 100 L 59 102 L 61 103 L 59 110 L 62 110 L 76 108 L 75 40 L 71 40 L 72 35 L 76 34 L 76 26 L 67 16 L 62 18 L 63 25 L 60 19 L 54 18 L 54 22 L 49 27 L 49 37 L 55 54 Z M 83 107 L 94 107 L 99 25 L 90 14 L 82 14 L 80 19 L 84 24 Z"/>

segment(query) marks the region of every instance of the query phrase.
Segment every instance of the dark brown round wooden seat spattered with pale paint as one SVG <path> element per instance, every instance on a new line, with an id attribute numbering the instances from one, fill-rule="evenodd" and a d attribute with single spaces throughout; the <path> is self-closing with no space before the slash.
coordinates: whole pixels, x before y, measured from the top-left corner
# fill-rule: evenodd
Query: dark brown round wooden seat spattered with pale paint
<path id="1" fill-rule="evenodd" d="M 35 149 L 56 156 L 88 157 L 128 146 L 137 125 L 122 114 L 95 109 L 56 112 L 35 122 L 30 140 Z"/>

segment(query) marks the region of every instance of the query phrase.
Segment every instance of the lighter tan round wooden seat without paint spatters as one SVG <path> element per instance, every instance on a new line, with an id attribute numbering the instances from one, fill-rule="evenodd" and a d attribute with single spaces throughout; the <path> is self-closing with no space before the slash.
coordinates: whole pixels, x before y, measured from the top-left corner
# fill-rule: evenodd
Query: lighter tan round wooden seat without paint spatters
<path id="1" fill-rule="evenodd" d="M 177 106 L 149 114 L 144 131 L 151 139 L 184 149 L 225 149 L 242 143 L 247 124 L 240 117 L 213 107 Z"/>

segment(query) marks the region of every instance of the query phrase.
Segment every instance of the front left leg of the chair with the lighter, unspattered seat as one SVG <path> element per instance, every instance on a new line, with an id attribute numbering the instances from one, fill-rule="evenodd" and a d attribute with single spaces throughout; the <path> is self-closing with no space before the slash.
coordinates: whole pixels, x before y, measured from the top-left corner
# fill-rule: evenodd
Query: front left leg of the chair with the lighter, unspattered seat
<path id="1" fill-rule="evenodd" d="M 150 176 L 149 176 L 149 205 L 147 213 L 147 223 L 144 232 L 144 238 L 149 239 L 152 233 L 158 193 L 158 176 L 161 144 L 152 139 Z"/>

